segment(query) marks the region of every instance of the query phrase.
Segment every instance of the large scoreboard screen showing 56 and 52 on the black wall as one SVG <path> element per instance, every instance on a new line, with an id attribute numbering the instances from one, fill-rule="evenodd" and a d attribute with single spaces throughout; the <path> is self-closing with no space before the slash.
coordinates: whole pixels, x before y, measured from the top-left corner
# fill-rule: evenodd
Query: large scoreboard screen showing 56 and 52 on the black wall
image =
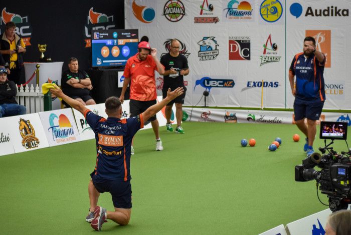
<path id="1" fill-rule="evenodd" d="M 91 30 L 92 66 L 124 66 L 138 50 L 138 29 Z"/>

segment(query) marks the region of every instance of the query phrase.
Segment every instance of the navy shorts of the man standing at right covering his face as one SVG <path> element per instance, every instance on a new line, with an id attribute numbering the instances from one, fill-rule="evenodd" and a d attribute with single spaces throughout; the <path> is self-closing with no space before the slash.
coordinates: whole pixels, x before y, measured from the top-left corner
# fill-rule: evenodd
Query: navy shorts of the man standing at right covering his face
<path id="1" fill-rule="evenodd" d="M 322 113 L 324 102 L 308 102 L 298 101 L 294 102 L 295 121 L 307 118 L 310 120 L 318 120 Z"/>

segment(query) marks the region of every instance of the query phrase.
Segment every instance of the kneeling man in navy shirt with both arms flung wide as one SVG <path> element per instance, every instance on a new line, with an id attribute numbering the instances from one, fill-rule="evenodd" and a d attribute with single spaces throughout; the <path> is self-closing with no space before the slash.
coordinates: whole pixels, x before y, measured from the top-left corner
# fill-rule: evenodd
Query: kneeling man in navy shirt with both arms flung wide
<path id="1" fill-rule="evenodd" d="M 130 185 L 130 148 L 134 134 L 143 127 L 147 120 L 169 101 L 184 92 L 183 87 L 170 91 L 160 102 L 148 107 L 137 116 L 120 119 L 122 116 L 121 102 L 117 97 L 109 97 L 105 101 L 107 119 L 96 115 L 78 100 L 65 95 L 60 88 L 50 91 L 65 100 L 71 107 L 80 111 L 95 132 L 96 165 L 90 174 L 89 199 L 91 213 L 86 220 L 91 221 L 95 230 L 100 230 L 105 219 L 112 219 L 118 224 L 126 225 L 131 213 L 131 185 Z M 106 211 L 97 205 L 100 193 L 110 192 L 115 211 Z M 92 210 L 94 209 L 94 210 Z M 92 214 L 92 211 L 94 213 Z M 93 216 L 91 216 L 93 215 Z"/>

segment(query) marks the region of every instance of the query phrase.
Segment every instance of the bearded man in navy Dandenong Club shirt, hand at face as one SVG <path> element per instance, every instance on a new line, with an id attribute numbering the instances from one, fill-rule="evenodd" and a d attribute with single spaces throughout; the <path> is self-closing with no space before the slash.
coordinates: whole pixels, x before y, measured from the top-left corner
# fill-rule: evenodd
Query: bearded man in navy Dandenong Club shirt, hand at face
<path id="1" fill-rule="evenodd" d="M 303 52 L 294 56 L 289 69 L 291 92 L 295 96 L 295 122 L 306 135 L 303 150 L 307 152 L 307 156 L 313 153 L 316 120 L 320 117 L 325 100 L 324 64 L 325 55 L 316 50 L 314 38 L 307 36 L 303 40 Z M 305 118 L 307 125 L 304 122 Z"/>

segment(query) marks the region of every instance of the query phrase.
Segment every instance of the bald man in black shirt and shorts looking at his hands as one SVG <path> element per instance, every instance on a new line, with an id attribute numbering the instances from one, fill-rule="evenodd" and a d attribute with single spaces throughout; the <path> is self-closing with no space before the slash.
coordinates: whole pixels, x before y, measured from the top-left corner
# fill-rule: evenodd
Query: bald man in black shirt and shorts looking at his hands
<path id="1" fill-rule="evenodd" d="M 167 131 L 173 131 L 173 127 L 170 122 L 170 116 L 172 113 L 172 106 L 175 103 L 175 117 L 177 118 L 177 128 L 175 128 L 175 133 L 184 133 L 182 128 L 182 117 L 183 117 L 183 103 L 185 98 L 186 87 L 184 86 L 183 76 L 189 74 L 188 59 L 183 54 L 179 52 L 181 43 L 177 39 L 172 39 L 170 42 L 169 53 L 161 57 L 161 64 L 164 66 L 163 73 L 163 88 L 162 94 L 163 98 L 167 96 L 167 90 L 170 88 L 174 90 L 177 87 L 184 87 L 184 93 L 177 98 L 171 100 L 165 108 L 165 115 L 167 119 Z"/>

